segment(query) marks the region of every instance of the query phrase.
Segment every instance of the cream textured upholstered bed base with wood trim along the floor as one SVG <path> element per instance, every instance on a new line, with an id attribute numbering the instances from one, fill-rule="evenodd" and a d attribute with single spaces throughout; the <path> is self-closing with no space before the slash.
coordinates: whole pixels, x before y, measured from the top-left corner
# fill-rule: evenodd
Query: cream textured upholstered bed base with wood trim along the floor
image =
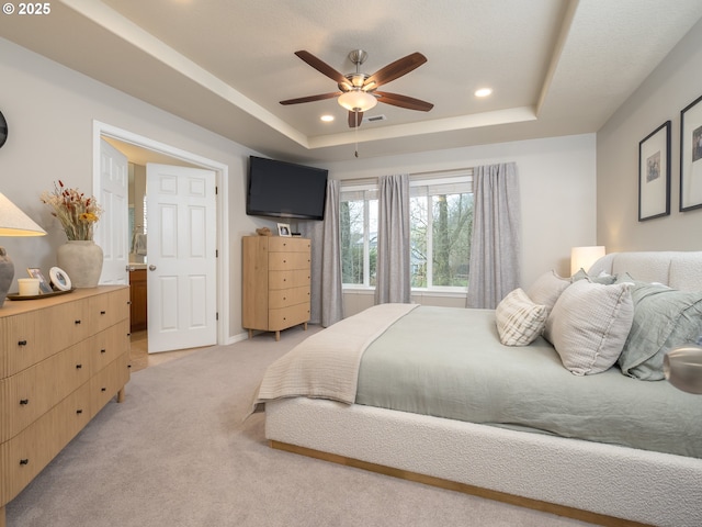
<path id="1" fill-rule="evenodd" d="M 482 494 L 602 525 L 702 525 L 702 459 L 326 400 L 269 402 L 265 413 L 265 437 L 301 453 L 495 491 Z"/>

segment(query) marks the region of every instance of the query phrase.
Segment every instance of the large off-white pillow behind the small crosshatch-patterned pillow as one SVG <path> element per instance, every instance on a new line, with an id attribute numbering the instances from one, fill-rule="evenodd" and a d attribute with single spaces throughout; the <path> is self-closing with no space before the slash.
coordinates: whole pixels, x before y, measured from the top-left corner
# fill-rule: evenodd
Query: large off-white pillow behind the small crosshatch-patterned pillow
<path id="1" fill-rule="evenodd" d="M 546 332 L 570 372 L 600 373 L 616 362 L 634 319 L 631 288 L 578 280 L 563 292 Z"/>

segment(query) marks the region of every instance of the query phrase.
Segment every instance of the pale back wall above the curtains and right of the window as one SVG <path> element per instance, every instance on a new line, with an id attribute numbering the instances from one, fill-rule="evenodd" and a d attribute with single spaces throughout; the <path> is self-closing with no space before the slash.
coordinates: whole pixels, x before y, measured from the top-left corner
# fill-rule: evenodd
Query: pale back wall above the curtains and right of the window
<path id="1" fill-rule="evenodd" d="M 471 146 L 326 165 L 333 179 L 516 161 L 522 208 L 522 284 L 555 269 L 570 276 L 570 247 L 596 243 L 595 135 Z M 363 145 L 360 145 L 363 154 Z M 349 157 L 353 156 L 349 147 Z"/>

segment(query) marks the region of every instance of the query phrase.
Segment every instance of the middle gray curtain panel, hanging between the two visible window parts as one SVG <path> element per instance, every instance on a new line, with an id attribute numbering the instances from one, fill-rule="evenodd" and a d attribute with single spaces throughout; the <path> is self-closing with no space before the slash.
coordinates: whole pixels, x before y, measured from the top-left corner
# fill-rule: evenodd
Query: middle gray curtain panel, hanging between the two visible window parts
<path id="1" fill-rule="evenodd" d="M 378 179 L 375 303 L 409 303 L 409 176 Z"/>

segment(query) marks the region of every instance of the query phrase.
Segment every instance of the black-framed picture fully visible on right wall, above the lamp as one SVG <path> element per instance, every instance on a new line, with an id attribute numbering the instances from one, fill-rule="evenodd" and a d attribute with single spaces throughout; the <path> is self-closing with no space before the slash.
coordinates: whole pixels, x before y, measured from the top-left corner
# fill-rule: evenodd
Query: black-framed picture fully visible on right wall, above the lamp
<path id="1" fill-rule="evenodd" d="M 670 214 L 670 121 L 638 143 L 638 221 Z"/>

